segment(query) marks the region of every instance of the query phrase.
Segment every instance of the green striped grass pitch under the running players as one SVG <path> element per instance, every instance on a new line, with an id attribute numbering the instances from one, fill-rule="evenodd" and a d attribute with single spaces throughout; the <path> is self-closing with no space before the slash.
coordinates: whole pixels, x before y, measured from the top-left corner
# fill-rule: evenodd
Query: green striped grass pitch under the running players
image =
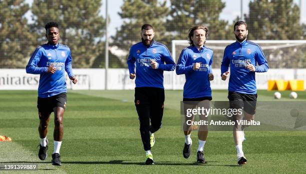
<path id="1" fill-rule="evenodd" d="M 258 90 L 258 100 L 275 101 L 273 92 Z M 281 93 L 280 100 L 291 100 L 289 91 Z M 297 94 L 296 100 L 306 100 L 304 91 Z M 231 131 L 210 131 L 204 151 L 207 163 L 195 164 L 197 137 L 193 133 L 191 156 L 184 159 L 179 115 L 181 90 L 166 90 L 163 127 L 155 133 L 152 148 L 155 165 L 143 165 L 133 95 L 133 90 L 69 91 L 60 150 L 62 166 L 52 166 L 52 122 L 47 134 L 48 158 L 41 161 L 37 157 L 37 92 L 0 91 L 0 135 L 12 138 L 11 142 L 0 142 L 0 163 L 34 162 L 39 168 L 35 172 L 41 173 L 306 172 L 306 131 L 246 131 L 243 151 L 248 163 L 243 166 L 236 165 Z M 213 100 L 227 100 L 227 90 L 214 90 L 212 96 Z"/>

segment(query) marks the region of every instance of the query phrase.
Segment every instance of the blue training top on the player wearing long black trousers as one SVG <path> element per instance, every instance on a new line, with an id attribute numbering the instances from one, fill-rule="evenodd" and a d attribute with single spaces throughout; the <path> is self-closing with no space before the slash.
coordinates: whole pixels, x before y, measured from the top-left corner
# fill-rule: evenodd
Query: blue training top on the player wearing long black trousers
<path id="1" fill-rule="evenodd" d="M 151 60 L 158 63 L 157 69 L 151 67 Z M 132 45 L 129 49 L 127 65 L 129 73 L 135 73 L 136 65 L 136 87 L 163 88 L 163 71 L 172 71 L 175 68 L 167 47 L 156 41 L 152 41 L 149 46 L 142 42 Z"/>

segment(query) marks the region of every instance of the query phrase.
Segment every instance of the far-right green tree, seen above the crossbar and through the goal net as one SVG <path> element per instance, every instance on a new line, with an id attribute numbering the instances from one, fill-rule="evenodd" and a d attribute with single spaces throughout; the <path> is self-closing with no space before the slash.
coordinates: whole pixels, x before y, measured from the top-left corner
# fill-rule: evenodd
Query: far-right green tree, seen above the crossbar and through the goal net
<path id="1" fill-rule="evenodd" d="M 254 0 L 249 2 L 249 14 L 244 15 L 248 39 L 298 40 L 304 39 L 299 24 L 299 7 L 293 0 Z M 275 44 L 276 45 L 276 44 Z M 271 68 L 304 68 L 306 55 L 300 46 L 264 49 Z M 276 58 L 276 60 L 275 60 Z"/>

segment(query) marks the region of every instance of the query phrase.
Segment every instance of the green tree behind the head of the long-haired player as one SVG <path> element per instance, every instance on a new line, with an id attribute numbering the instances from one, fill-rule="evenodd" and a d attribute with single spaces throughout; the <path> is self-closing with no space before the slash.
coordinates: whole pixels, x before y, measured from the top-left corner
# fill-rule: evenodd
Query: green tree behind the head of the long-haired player
<path id="1" fill-rule="evenodd" d="M 166 22 L 172 39 L 187 39 L 188 29 L 194 25 L 208 27 L 208 39 L 228 39 L 227 21 L 219 14 L 225 7 L 221 0 L 170 0 L 170 13 Z"/>

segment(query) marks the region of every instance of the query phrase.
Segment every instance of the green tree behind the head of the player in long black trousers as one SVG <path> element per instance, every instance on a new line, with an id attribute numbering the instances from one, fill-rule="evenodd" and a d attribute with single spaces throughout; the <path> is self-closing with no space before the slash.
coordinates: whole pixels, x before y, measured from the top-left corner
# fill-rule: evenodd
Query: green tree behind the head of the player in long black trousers
<path id="1" fill-rule="evenodd" d="M 168 14 L 166 1 L 158 0 L 123 0 L 121 12 L 118 14 L 123 19 L 120 28 L 116 29 L 112 37 L 113 45 L 128 51 L 132 44 L 141 41 L 140 29 L 144 23 L 153 26 L 155 39 L 169 46 L 170 39 L 165 28 L 165 17 Z"/>

